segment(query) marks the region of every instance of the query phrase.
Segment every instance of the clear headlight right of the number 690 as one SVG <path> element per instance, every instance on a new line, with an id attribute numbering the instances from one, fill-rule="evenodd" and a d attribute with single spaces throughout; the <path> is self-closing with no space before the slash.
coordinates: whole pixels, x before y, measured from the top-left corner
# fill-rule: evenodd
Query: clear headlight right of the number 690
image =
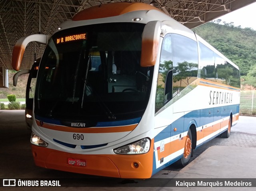
<path id="1" fill-rule="evenodd" d="M 137 142 L 114 149 L 116 154 L 144 154 L 150 149 L 150 139 L 144 138 Z"/>

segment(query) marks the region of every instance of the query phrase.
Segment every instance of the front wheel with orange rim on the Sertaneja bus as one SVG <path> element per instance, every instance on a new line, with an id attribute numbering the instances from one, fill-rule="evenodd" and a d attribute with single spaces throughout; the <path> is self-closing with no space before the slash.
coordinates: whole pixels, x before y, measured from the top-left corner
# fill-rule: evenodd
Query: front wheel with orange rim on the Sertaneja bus
<path id="1" fill-rule="evenodd" d="M 184 145 L 184 153 L 182 155 L 182 158 L 177 161 L 177 165 L 180 167 L 185 167 L 192 154 L 192 134 L 190 128 L 188 129 L 188 134 L 185 138 L 185 145 Z"/>

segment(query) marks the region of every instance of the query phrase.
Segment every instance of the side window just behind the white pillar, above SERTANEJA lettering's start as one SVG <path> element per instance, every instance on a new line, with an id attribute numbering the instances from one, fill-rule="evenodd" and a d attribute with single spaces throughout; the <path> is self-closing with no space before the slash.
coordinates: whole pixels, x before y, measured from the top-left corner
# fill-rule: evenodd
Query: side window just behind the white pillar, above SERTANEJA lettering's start
<path id="1" fill-rule="evenodd" d="M 215 80 L 214 52 L 199 42 L 200 64 L 198 77 L 209 81 Z"/>

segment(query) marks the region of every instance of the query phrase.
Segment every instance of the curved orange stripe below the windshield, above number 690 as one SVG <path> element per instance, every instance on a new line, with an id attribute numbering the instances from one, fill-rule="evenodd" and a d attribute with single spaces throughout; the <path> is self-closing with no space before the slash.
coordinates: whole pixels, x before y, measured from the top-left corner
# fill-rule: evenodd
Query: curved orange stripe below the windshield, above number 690
<path id="1" fill-rule="evenodd" d="M 40 127 L 52 129 L 56 131 L 63 131 L 63 132 L 76 132 L 76 133 L 116 133 L 116 132 L 128 132 L 132 131 L 136 128 L 138 124 L 128 125 L 128 126 L 117 126 L 117 127 L 104 127 L 104 128 L 73 128 L 73 127 L 66 127 L 54 124 L 47 124 L 44 123 L 40 125 L 40 122 L 36 120 L 36 124 Z"/>

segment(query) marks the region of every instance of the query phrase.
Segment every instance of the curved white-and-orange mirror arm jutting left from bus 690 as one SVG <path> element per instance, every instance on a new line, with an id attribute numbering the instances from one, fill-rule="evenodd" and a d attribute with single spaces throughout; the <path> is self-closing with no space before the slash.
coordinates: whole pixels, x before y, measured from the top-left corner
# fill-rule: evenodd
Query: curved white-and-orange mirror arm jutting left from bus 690
<path id="1" fill-rule="evenodd" d="M 27 37 L 20 38 L 14 45 L 14 48 L 12 51 L 12 68 L 16 71 L 20 70 L 22 57 L 28 43 L 32 41 L 36 41 L 38 43 L 47 44 L 49 39 L 50 39 L 50 35 L 43 35 L 43 34 L 33 34 Z"/>

